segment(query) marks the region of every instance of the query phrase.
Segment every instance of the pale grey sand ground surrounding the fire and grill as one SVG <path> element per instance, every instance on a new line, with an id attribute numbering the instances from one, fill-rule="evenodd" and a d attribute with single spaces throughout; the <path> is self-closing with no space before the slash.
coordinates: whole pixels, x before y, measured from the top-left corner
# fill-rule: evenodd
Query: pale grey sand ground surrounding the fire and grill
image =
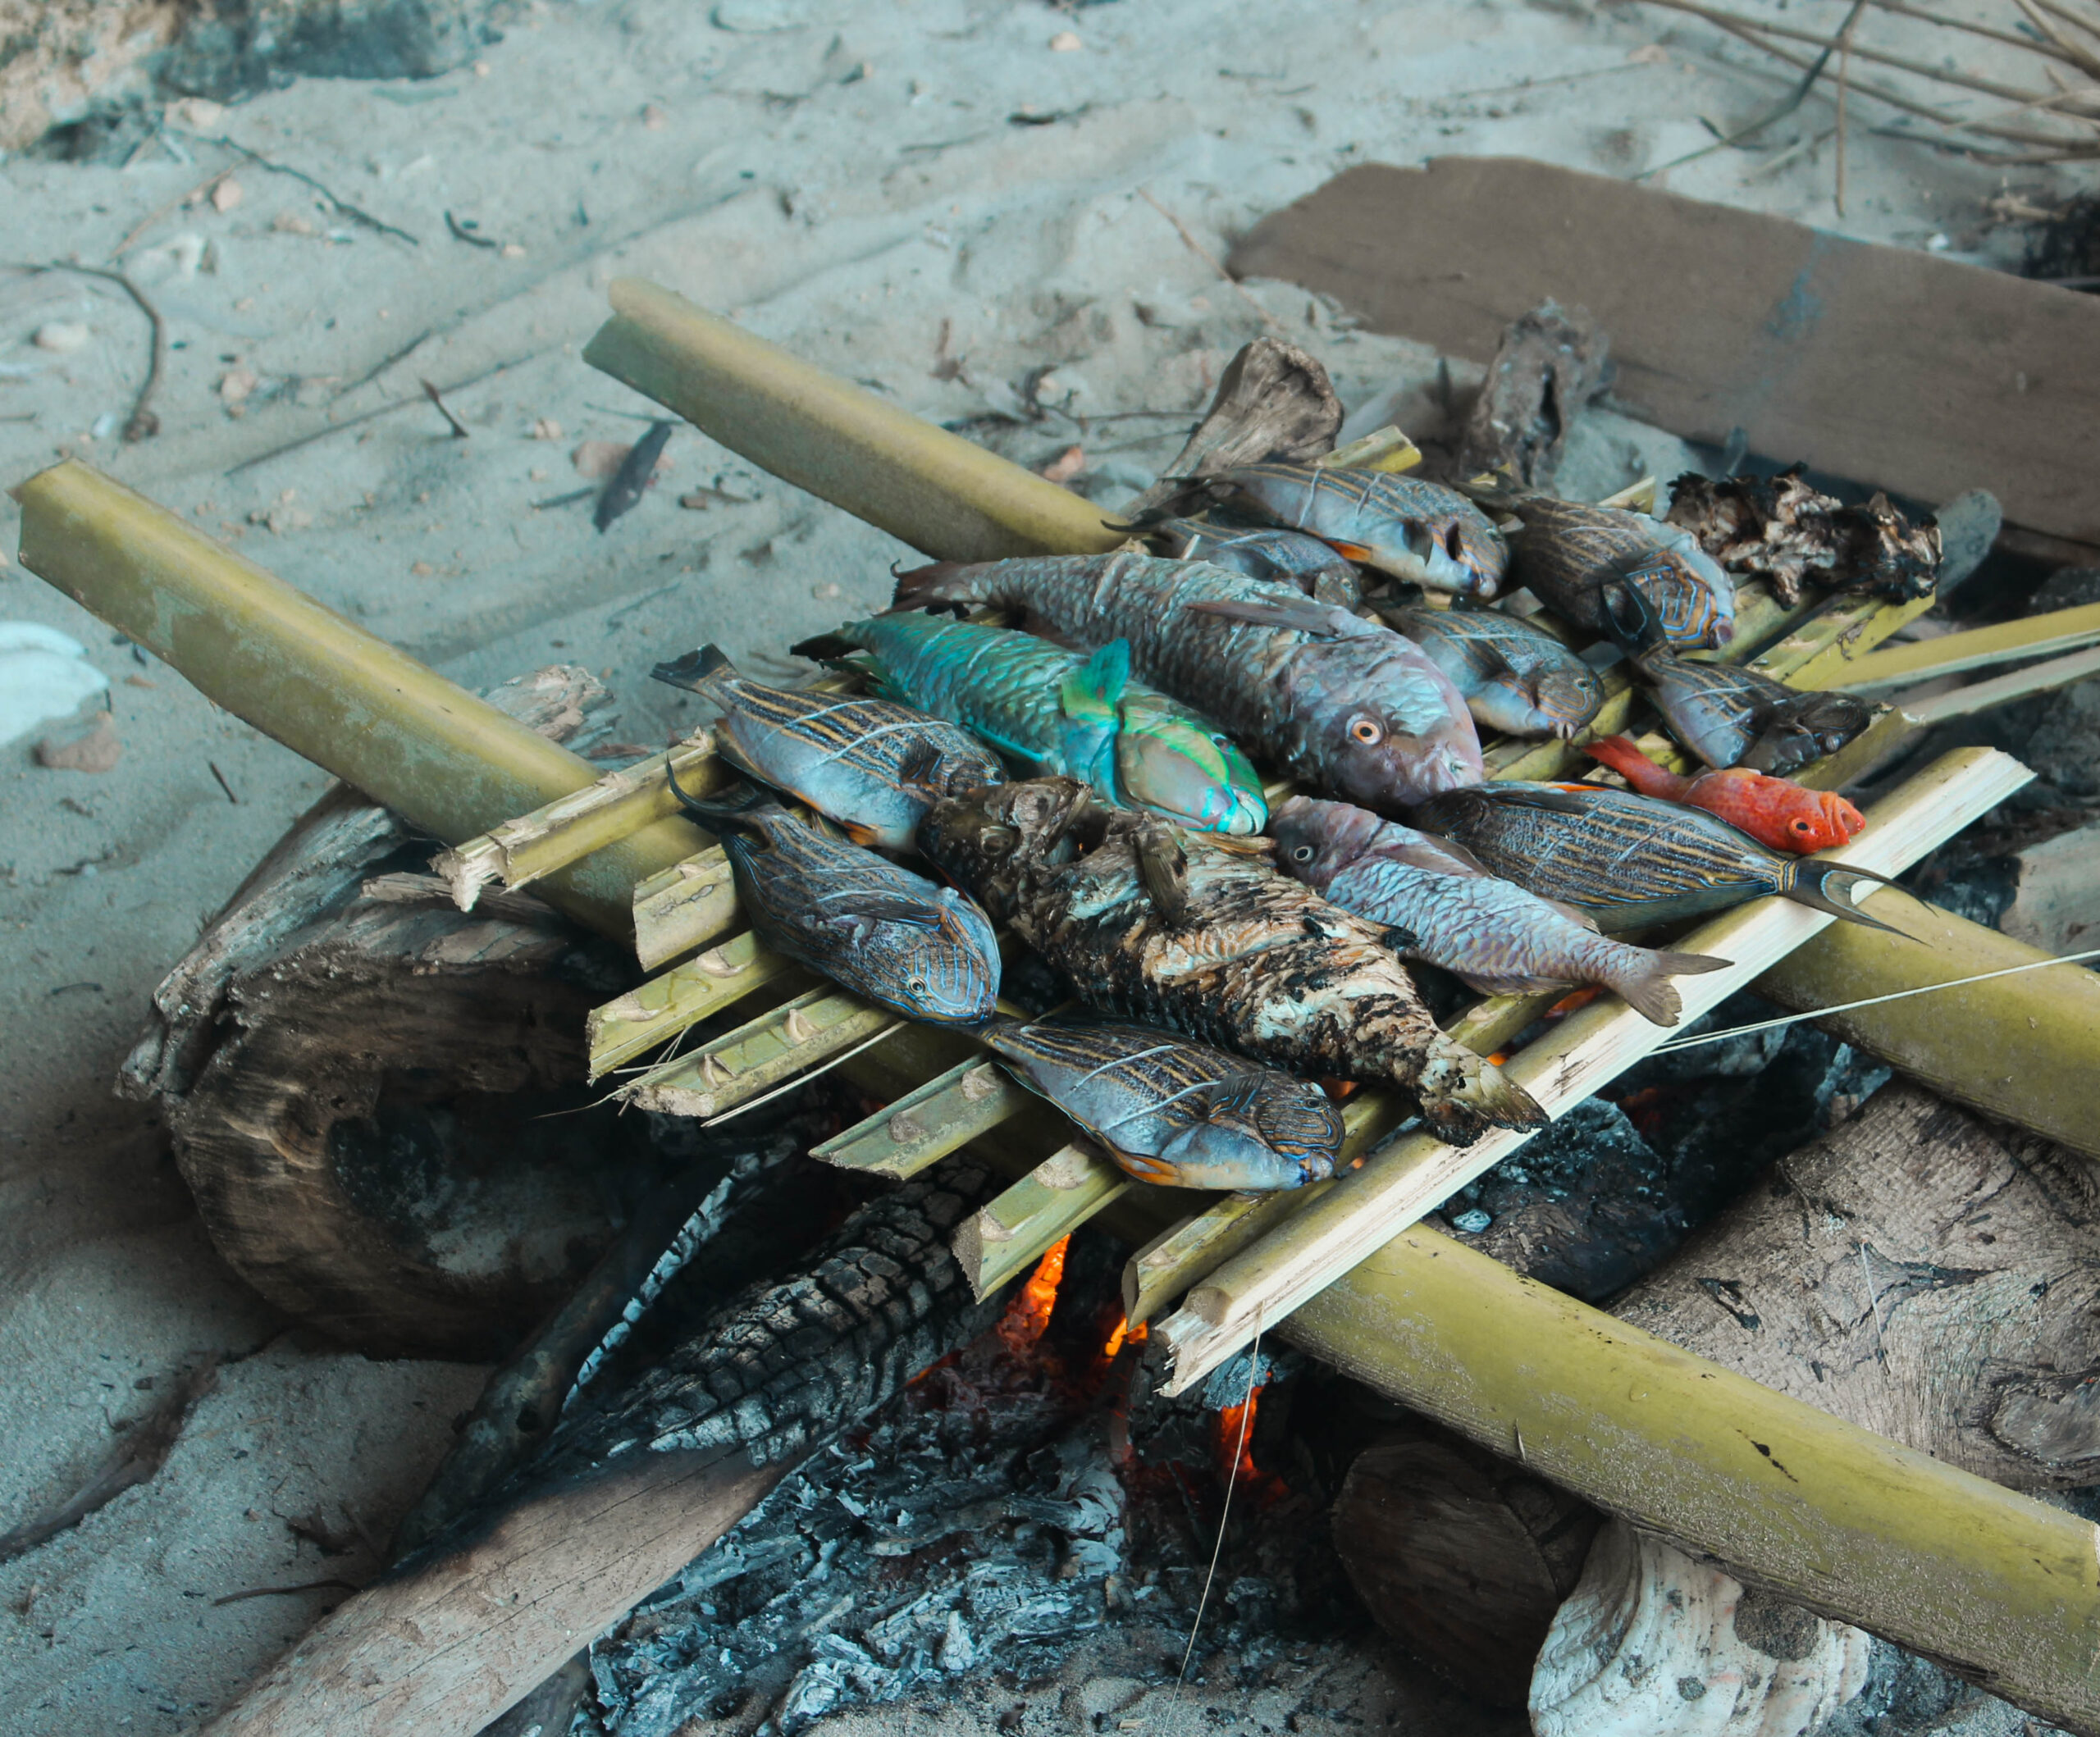
<path id="1" fill-rule="evenodd" d="M 1840 15 L 1835 0 L 1787 11 Z M 1905 29 L 1875 19 L 1888 46 Z M 1065 32 L 1077 48 L 1052 48 Z M 231 162 L 195 137 L 176 134 L 187 162 L 0 164 L 13 258 L 105 263 L 136 229 L 126 265 L 181 344 L 162 435 L 126 447 L 113 426 L 141 372 L 139 315 L 92 279 L 0 277 L 0 479 L 86 456 L 468 685 L 556 660 L 601 668 L 626 699 L 620 735 L 662 739 L 676 699 L 645 678 L 657 657 L 701 639 L 777 653 L 878 603 L 905 550 L 691 431 L 611 533 L 588 506 L 536 510 L 580 485 L 578 441 L 640 428 L 620 412 L 643 405 L 578 361 L 609 277 L 670 284 L 937 418 L 1012 405 L 1042 363 L 1056 372 L 1046 399 L 1172 412 L 1098 424 L 1090 487 L 1115 500 L 1260 330 L 1138 189 L 1216 252 L 1348 164 L 1512 153 L 1628 172 L 1781 90 L 1705 27 L 1575 0 L 722 0 L 712 15 L 531 0 L 477 67 L 435 84 L 300 82 L 189 116 L 420 246 L 351 227 L 256 166 L 235 172 L 239 204 L 178 206 Z M 1023 109 L 1063 118 L 1023 126 Z M 1829 124 L 1816 97 L 1774 137 Z M 2003 172 L 1856 124 L 1840 221 L 1827 147 L 1774 158 L 1718 153 L 1667 185 L 1898 246 L 2006 246 L 1984 214 Z M 508 246 L 452 239 L 447 210 Z M 1352 399 L 1422 363 L 1300 290 L 1250 294 Z M 88 342 L 38 349 L 46 321 L 86 323 Z M 956 378 L 934 376 L 943 330 Z M 470 439 L 445 437 L 420 376 L 479 380 L 449 393 Z M 265 456 L 395 399 L 407 407 Z M 1040 464 L 1071 439 L 1052 418 L 1016 452 Z M 748 500 L 682 510 L 701 485 Z M 15 523 L 0 500 L 0 548 Z M 164 1393 L 206 1355 L 242 1359 L 153 1483 L 0 1569 L 0 1729 L 172 1733 L 342 1592 L 214 1600 L 365 1577 L 363 1540 L 412 1500 L 481 1372 L 372 1363 L 290 1330 L 216 1262 L 151 1115 L 109 1094 L 149 989 L 321 775 L 19 567 L 0 567 L 0 620 L 84 641 L 116 683 L 124 739 L 107 775 L 0 746 L 0 1527 L 78 1485 L 111 1428 L 153 1403 L 141 1382 Z M 315 1512 L 342 1554 L 288 1529 Z M 1373 1724 L 1464 1722 L 1361 1661 L 1334 1668 L 1359 1672 Z M 989 1708 L 914 1714 L 914 1729 L 983 1729 Z M 1237 1693 L 1218 1708 L 1208 1729 L 1287 1712 Z M 1037 1695 L 1025 1729 L 1090 1714 Z"/>

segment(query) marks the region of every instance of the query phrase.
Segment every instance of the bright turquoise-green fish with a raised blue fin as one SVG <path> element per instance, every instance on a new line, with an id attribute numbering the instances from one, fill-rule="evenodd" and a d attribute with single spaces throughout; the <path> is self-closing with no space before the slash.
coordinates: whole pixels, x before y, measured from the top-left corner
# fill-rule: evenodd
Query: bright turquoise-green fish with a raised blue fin
<path id="1" fill-rule="evenodd" d="M 1065 651 L 1035 634 L 878 615 L 804 641 L 800 657 L 848 660 L 876 693 L 951 718 L 1027 773 L 1084 777 L 1111 802 L 1157 809 L 1203 832 L 1260 832 L 1260 773 L 1201 712 L 1130 681 L 1130 647 Z"/>

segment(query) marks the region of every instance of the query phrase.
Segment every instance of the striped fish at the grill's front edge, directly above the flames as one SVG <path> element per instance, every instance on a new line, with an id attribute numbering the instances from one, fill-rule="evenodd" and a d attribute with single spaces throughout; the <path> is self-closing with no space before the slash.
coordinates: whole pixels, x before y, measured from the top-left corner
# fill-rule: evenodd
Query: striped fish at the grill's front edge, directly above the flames
<path id="1" fill-rule="evenodd" d="M 1172 1031 L 1002 1019 L 985 1048 L 1142 1183 L 1298 1189 L 1331 1176 L 1342 1151 L 1319 1086 Z"/>

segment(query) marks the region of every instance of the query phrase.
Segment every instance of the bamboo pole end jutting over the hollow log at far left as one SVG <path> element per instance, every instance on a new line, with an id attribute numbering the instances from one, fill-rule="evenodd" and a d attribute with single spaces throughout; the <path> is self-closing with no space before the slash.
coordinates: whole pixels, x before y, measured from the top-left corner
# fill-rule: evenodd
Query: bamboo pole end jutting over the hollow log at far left
<path id="1" fill-rule="evenodd" d="M 21 563 L 166 660 L 208 699 L 447 844 L 596 781 L 596 769 L 78 460 L 19 489 Z M 628 888 L 689 857 L 682 819 L 550 876 L 607 935 Z"/>

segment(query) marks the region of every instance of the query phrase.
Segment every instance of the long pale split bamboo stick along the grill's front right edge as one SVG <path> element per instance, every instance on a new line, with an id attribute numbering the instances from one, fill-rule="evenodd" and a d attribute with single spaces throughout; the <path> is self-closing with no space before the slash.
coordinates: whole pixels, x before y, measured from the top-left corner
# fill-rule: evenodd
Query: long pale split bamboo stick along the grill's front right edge
<path id="1" fill-rule="evenodd" d="M 1877 874 L 1900 874 L 2031 777 L 2018 760 L 1991 748 L 1947 754 L 1875 802 L 1867 830 L 1846 846 L 1840 861 Z M 1894 888 L 1877 891 L 1873 903 L 1884 920 L 1898 926 L 1924 920 L 1924 907 Z M 1772 897 L 1701 924 L 1680 945 L 1735 964 L 1680 979 L 1686 1019 L 1718 1006 L 1831 922 L 1835 918 L 1825 912 Z M 1617 998 L 1604 998 L 1512 1056 L 1506 1071 L 1554 1113 L 1609 1084 L 1665 1035 L 1663 1027 L 1651 1025 Z M 1361 1172 L 1189 1292 L 1182 1309 L 1159 1330 L 1174 1357 L 1168 1390 L 1186 1390 L 1247 1344 L 1262 1321 L 1281 1321 L 1527 1138 L 1527 1132 L 1493 1130 L 1470 1147 L 1447 1147 L 1422 1132 L 1386 1147 Z"/>

